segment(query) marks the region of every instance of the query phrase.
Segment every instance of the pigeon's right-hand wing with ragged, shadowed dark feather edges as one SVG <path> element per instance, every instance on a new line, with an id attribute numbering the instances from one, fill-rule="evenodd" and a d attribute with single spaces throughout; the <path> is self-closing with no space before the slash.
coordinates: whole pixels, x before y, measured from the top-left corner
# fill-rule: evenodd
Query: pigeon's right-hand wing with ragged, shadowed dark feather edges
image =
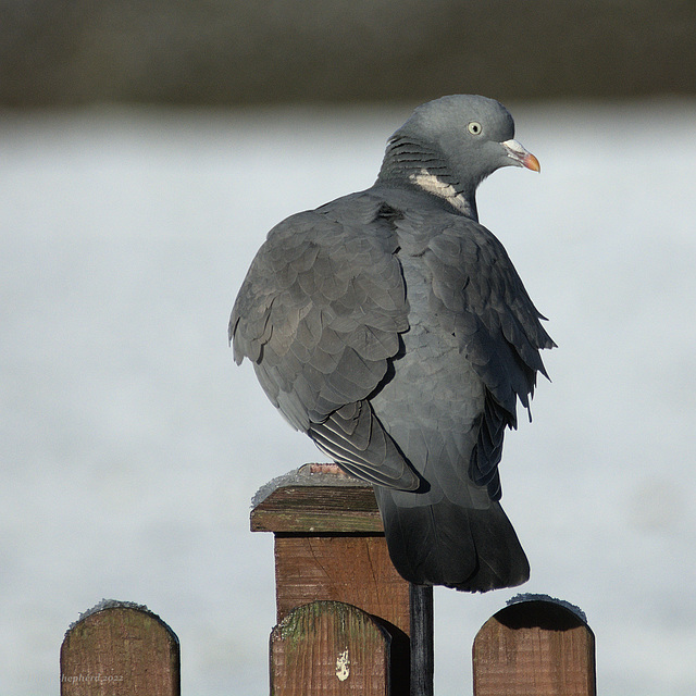
<path id="1" fill-rule="evenodd" d="M 431 309 L 486 387 L 469 475 L 497 499 L 505 427 L 517 426 L 518 399 L 529 409 L 536 373 L 548 376 L 539 350 L 555 344 L 505 248 L 478 223 L 458 217 L 444 226 L 423 259 L 433 278 Z"/>

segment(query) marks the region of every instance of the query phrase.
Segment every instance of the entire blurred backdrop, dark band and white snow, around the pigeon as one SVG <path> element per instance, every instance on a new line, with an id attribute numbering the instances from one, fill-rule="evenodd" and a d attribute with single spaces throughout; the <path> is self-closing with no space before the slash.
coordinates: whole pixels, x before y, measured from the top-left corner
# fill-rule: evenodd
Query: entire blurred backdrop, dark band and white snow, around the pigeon
<path id="1" fill-rule="evenodd" d="M 57 693 L 104 597 L 174 629 L 184 696 L 268 693 L 250 500 L 320 457 L 229 310 L 275 223 L 477 92 L 542 162 L 478 208 L 559 345 L 501 465 L 520 589 L 586 612 L 599 693 L 691 696 L 695 90 L 687 0 L 0 0 L 0 694 Z M 437 694 L 515 594 L 436 591 Z"/>

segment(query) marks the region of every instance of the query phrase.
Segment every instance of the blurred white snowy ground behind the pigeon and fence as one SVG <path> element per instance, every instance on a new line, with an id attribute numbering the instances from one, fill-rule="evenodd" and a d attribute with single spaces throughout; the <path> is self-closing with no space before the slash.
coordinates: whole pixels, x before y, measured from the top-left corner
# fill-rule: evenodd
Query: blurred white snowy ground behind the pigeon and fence
<path id="1" fill-rule="evenodd" d="M 696 691 L 695 107 L 515 107 L 543 173 L 478 198 L 559 345 L 502 462 L 521 589 L 587 613 L 605 695 Z M 268 693 L 249 501 L 318 452 L 233 365 L 227 316 L 266 231 L 369 186 L 406 114 L 3 114 L 3 696 L 57 693 L 102 597 L 176 631 L 184 696 Z M 471 692 L 473 636 L 514 594 L 436 592 L 439 696 Z"/>

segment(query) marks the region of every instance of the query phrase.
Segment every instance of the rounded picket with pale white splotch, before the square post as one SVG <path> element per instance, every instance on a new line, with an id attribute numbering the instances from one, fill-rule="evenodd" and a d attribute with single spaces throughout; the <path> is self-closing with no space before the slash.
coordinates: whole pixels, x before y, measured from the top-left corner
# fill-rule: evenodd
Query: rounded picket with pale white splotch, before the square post
<path id="1" fill-rule="evenodd" d="M 389 633 L 340 601 L 293 609 L 271 633 L 273 696 L 388 696 Z"/>

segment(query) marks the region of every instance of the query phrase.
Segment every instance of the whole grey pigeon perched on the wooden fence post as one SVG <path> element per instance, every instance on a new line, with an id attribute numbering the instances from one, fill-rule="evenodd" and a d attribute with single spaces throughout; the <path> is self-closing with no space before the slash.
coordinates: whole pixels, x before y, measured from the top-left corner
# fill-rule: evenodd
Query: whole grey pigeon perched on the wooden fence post
<path id="1" fill-rule="evenodd" d="M 529 579 L 498 462 L 554 341 L 475 202 L 501 166 L 539 171 L 513 137 L 485 97 L 419 107 L 371 188 L 269 233 L 229 321 L 235 361 L 281 413 L 374 484 L 391 561 L 418 585 Z"/>

